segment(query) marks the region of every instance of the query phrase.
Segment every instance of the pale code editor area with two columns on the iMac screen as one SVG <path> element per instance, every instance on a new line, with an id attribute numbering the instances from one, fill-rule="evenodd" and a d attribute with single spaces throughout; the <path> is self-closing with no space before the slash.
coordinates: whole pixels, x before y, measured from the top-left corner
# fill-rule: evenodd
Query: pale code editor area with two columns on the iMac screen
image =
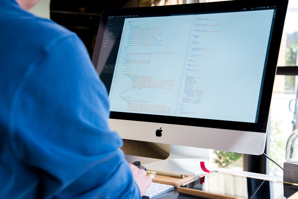
<path id="1" fill-rule="evenodd" d="M 273 14 L 126 18 L 110 110 L 255 122 Z"/>

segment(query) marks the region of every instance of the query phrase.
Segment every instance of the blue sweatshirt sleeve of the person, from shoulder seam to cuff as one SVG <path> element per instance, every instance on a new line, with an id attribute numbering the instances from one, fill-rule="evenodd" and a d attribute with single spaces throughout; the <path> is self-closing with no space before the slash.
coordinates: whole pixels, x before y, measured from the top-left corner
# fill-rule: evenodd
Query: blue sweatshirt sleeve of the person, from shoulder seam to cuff
<path id="1" fill-rule="evenodd" d="M 13 150 L 41 179 L 43 198 L 140 198 L 122 140 L 108 126 L 107 91 L 76 35 L 36 55 L 12 113 Z"/>

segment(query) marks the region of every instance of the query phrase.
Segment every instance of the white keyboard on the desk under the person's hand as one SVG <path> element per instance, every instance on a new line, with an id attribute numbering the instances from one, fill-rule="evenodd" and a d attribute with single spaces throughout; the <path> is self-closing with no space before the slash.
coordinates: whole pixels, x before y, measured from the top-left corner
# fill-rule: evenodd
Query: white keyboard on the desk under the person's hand
<path id="1" fill-rule="evenodd" d="M 146 193 L 143 195 L 143 198 L 154 198 L 156 196 L 165 194 L 173 190 L 173 185 L 152 182 L 149 188 L 147 189 Z"/>

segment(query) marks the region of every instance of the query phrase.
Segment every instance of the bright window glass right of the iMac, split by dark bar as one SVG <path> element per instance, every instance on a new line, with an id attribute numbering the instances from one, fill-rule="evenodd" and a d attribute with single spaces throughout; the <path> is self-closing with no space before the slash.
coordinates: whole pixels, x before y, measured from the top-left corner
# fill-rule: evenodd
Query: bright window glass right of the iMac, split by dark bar
<path id="1" fill-rule="evenodd" d="M 277 66 L 297 66 L 298 1 L 289 0 L 288 10 L 280 45 Z M 295 102 L 297 98 L 297 76 L 277 75 L 274 81 L 270 111 L 269 156 L 283 167 L 285 146 L 296 123 Z M 291 103 L 290 103 L 291 102 Z M 294 127 L 295 128 L 295 127 Z M 271 161 L 269 174 L 283 175 L 283 171 Z"/>

